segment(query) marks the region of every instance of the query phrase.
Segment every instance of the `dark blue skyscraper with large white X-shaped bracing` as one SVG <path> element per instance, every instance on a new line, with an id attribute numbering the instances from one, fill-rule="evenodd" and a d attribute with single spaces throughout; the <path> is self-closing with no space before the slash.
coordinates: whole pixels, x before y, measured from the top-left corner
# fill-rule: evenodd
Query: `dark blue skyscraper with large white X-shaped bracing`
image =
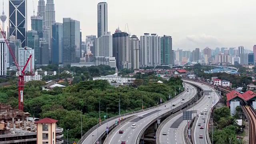
<path id="1" fill-rule="evenodd" d="M 9 37 L 12 35 L 26 46 L 27 0 L 9 0 Z"/>

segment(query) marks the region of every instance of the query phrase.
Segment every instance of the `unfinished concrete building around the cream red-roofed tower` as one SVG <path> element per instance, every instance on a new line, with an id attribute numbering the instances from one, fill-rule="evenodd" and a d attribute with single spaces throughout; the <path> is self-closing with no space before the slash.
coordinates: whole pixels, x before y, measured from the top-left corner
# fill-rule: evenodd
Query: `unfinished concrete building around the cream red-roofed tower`
<path id="1" fill-rule="evenodd" d="M 0 144 L 36 144 L 36 118 L 29 116 L 28 112 L 0 104 Z M 56 144 L 63 143 L 62 131 L 56 127 Z"/>

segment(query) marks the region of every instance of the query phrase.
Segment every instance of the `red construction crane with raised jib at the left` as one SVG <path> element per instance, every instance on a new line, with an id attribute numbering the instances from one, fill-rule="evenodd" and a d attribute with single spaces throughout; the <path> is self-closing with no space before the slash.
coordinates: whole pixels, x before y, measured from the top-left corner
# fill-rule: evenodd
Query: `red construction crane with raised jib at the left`
<path id="1" fill-rule="evenodd" d="M 1 33 L 2 33 L 2 36 L 4 38 L 4 41 L 8 47 L 8 50 L 10 52 L 10 55 L 12 56 L 12 60 L 14 61 L 14 64 L 16 65 L 17 67 L 17 72 L 18 72 L 18 95 L 19 95 L 19 110 L 22 110 L 23 111 L 23 90 L 24 90 L 24 76 L 34 76 L 34 74 L 32 73 L 32 67 L 31 67 L 31 64 L 32 64 L 32 54 L 30 54 L 30 56 L 28 57 L 28 60 L 24 66 L 24 68 L 22 69 L 22 71 L 20 71 L 20 68 L 22 66 L 20 66 L 16 60 L 16 57 L 15 57 L 15 54 L 13 54 L 13 51 L 12 51 L 12 48 L 8 42 L 8 40 L 6 39 L 6 36 L 5 36 L 5 32 L 2 30 L 2 24 L 0 24 L 0 30 L 1 30 Z M 26 50 L 26 48 L 24 48 Z M 26 67 L 28 66 L 28 62 L 30 61 L 30 72 L 25 72 L 25 69 Z"/>

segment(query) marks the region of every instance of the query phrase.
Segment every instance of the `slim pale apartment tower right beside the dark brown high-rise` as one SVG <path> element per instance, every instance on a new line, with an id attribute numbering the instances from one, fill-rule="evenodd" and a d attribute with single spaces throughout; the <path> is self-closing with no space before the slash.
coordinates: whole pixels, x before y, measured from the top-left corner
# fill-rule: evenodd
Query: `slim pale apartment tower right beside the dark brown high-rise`
<path id="1" fill-rule="evenodd" d="M 129 49 L 131 50 L 131 63 L 133 69 L 140 68 L 140 40 L 132 35 L 129 39 Z"/>

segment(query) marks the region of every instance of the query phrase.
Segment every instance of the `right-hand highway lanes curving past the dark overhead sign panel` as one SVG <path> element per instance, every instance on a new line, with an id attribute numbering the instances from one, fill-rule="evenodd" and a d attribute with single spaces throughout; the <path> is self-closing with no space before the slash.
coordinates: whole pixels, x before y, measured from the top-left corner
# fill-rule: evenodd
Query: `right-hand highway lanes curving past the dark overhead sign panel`
<path id="1" fill-rule="evenodd" d="M 184 80 L 184 82 L 186 82 L 186 80 Z M 196 84 L 198 82 L 192 82 L 192 83 Z M 200 85 L 200 87 L 202 87 L 203 90 L 212 90 L 209 86 L 202 85 L 200 83 L 198 83 L 198 85 Z M 202 120 L 202 116 L 205 116 L 207 120 L 208 114 L 205 115 L 204 108 L 207 108 L 208 107 L 207 105 L 210 105 L 210 99 L 214 101 L 214 98 L 215 98 L 215 101 L 218 102 L 218 96 L 216 94 L 215 96 L 213 94 L 212 98 L 208 98 L 209 96 L 205 96 L 200 103 L 194 106 L 194 110 L 197 110 L 197 113 L 200 116 L 200 118 L 198 119 L 197 125 L 198 123 L 201 123 L 202 125 L 204 125 L 204 129 L 200 129 L 199 126 L 196 126 L 195 137 L 196 137 L 196 142 L 198 142 L 198 144 L 201 144 L 200 143 L 201 141 L 204 142 L 204 139 L 199 139 L 199 134 L 205 135 L 204 130 L 206 130 L 205 129 L 206 123 L 204 123 L 204 120 Z M 193 110 L 193 108 L 190 108 L 189 110 Z M 207 111 L 209 112 L 209 110 Z M 201 115 L 200 114 L 201 112 L 204 112 L 204 114 Z M 166 122 L 166 124 L 163 126 L 162 130 L 160 131 L 161 132 L 160 144 L 185 144 L 183 130 L 186 124 L 188 123 L 187 123 L 187 120 L 183 120 L 182 115 L 183 115 L 182 113 L 178 114 L 177 116 L 175 116 L 174 118 Z M 196 114 L 194 114 L 194 116 L 196 116 Z M 164 131 L 167 133 L 166 135 L 162 135 L 162 132 Z"/>

